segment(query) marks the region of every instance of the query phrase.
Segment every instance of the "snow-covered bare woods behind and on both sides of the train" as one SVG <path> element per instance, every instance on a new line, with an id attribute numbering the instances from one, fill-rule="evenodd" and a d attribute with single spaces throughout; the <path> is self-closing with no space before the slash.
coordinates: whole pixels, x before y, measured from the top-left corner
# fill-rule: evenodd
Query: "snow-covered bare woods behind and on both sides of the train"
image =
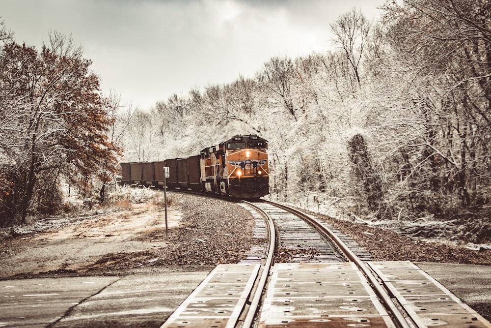
<path id="1" fill-rule="evenodd" d="M 397 226 L 413 236 L 491 242 L 491 3 L 388 0 L 383 9 L 378 22 L 357 9 L 341 15 L 330 25 L 332 48 L 326 53 L 274 57 L 253 77 L 175 93 L 150 111 L 121 104 L 115 95 L 81 102 L 80 95 L 58 90 L 52 76 L 36 86 L 37 98 L 23 98 L 28 86 L 8 89 L 2 73 L 0 179 L 11 185 L 15 179 L 25 181 L 23 192 L 32 197 L 20 198 L 24 203 L 18 206 L 24 209 L 34 209 L 34 200 L 42 203 L 40 191 L 46 188 L 41 181 L 64 181 L 76 185 L 85 198 L 98 192 L 104 199 L 117 170 L 101 163 L 184 157 L 235 134 L 251 133 L 269 141 L 273 200 Z M 8 35 L 2 38 L 5 66 L 14 49 Z M 64 46 L 52 43 L 37 55 L 39 60 L 55 58 L 58 65 L 66 57 L 82 60 L 76 49 L 66 48 L 66 40 Z M 82 62 L 74 67 L 87 67 Z M 64 72 L 66 76 L 53 68 L 50 74 L 58 74 L 66 85 L 97 89 L 97 79 L 88 71 Z M 5 97 L 8 92 L 18 98 Z M 64 105 L 54 105 L 52 99 Z M 83 107 L 94 101 L 96 106 Z M 21 103 L 39 113 L 18 118 L 14 109 Z M 67 113 L 90 117 L 90 124 L 98 125 L 82 124 L 72 131 L 58 124 L 75 124 L 63 119 Z M 21 119 L 26 127 L 19 133 L 3 123 Z M 50 132 L 32 134 L 32 119 Z M 78 136 L 65 138 L 67 131 Z M 87 136 L 87 131 L 95 135 Z M 13 135 L 20 139 L 12 140 Z M 50 160 L 39 160 L 39 151 L 25 151 L 41 147 L 41 142 L 33 144 L 34 135 L 47 147 L 42 156 Z M 52 138 L 58 144 L 49 148 Z M 84 148 L 66 145 L 69 141 Z M 77 165 L 81 156 L 73 150 L 87 145 L 93 151 L 83 156 L 93 155 L 97 163 L 90 170 Z M 14 156 L 15 164 L 13 155 L 19 157 Z M 36 161 L 40 164 L 33 169 Z M 29 181 L 32 171 L 36 183 Z M 13 202 L 13 187 L 1 185 L 0 211 L 8 208 L 6 201 Z M 58 208 L 63 204 L 55 203 Z"/>

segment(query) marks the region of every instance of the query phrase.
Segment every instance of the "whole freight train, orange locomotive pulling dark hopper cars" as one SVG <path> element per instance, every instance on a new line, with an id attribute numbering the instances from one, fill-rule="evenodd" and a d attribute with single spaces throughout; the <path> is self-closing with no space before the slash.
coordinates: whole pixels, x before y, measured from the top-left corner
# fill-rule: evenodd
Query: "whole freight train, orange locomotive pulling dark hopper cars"
<path id="1" fill-rule="evenodd" d="M 268 141 L 257 135 L 235 135 L 199 155 L 120 163 L 120 182 L 258 199 L 269 193 L 267 149 Z"/>

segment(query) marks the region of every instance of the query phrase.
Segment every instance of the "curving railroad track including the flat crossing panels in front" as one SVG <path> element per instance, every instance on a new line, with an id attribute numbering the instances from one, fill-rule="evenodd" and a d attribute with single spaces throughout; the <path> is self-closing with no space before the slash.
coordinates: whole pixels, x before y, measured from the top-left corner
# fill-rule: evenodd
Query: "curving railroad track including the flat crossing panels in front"
<path id="1" fill-rule="evenodd" d="M 324 222 L 273 202 L 243 202 L 255 246 L 220 265 L 163 328 L 491 328 L 410 262 L 372 262 Z"/>

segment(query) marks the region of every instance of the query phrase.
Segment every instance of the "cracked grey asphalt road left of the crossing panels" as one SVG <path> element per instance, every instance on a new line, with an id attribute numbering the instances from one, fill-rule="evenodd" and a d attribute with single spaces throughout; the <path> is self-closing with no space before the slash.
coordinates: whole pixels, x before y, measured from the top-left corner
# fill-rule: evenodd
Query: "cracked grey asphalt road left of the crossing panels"
<path id="1" fill-rule="evenodd" d="M 210 270 L 0 281 L 0 327 L 160 327 Z"/>

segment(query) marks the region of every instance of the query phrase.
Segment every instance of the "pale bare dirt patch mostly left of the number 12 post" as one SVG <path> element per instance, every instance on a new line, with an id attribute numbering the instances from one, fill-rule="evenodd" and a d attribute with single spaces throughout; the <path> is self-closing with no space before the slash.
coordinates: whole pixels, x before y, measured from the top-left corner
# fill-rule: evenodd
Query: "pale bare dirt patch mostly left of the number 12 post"
<path id="1" fill-rule="evenodd" d="M 181 213 L 170 209 L 168 229 L 179 227 Z M 165 214 L 157 205 L 134 204 L 94 215 L 61 229 L 0 241 L 0 278 L 55 271 L 84 271 L 101 257 L 165 247 Z M 141 264 L 143 265 L 143 264 Z"/>

